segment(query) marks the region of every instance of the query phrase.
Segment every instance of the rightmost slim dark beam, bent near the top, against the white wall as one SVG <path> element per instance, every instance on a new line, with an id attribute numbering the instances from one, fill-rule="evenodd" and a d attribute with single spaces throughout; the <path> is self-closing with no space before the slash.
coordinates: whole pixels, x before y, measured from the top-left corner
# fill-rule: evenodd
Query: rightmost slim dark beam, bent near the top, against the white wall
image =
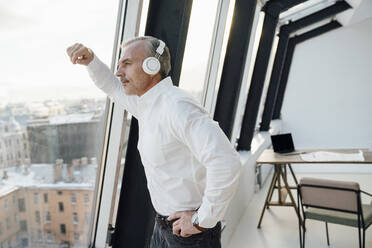
<path id="1" fill-rule="evenodd" d="M 284 93 L 285 89 L 287 87 L 287 81 L 289 76 L 290 67 L 292 64 L 292 58 L 294 54 L 295 47 L 298 43 L 304 42 L 308 39 L 311 39 L 313 37 L 322 35 L 326 32 L 329 32 L 333 29 L 341 27 L 341 24 L 337 21 L 331 21 L 328 24 L 325 24 L 321 27 L 318 27 L 316 29 L 313 29 L 309 32 L 306 32 L 304 34 L 301 34 L 299 36 L 295 36 L 289 40 L 288 43 L 288 49 L 287 49 L 287 55 L 284 62 L 283 72 L 282 72 L 282 78 L 280 80 L 280 86 L 278 89 L 278 95 L 276 98 L 275 108 L 274 108 L 274 114 L 273 119 L 280 119 L 280 112 L 283 105 L 283 99 L 284 99 Z"/>

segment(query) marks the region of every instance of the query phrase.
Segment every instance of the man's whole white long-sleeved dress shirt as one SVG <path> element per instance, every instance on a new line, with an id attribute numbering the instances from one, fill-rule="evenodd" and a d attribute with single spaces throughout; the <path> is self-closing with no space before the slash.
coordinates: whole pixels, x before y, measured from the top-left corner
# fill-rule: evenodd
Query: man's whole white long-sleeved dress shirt
<path id="1" fill-rule="evenodd" d="M 223 219 L 241 170 L 217 122 L 167 77 L 141 97 L 128 96 L 96 56 L 88 65 L 95 84 L 138 119 L 138 150 L 155 210 L 161 215 L 198 209 L 199 225 Z"/>

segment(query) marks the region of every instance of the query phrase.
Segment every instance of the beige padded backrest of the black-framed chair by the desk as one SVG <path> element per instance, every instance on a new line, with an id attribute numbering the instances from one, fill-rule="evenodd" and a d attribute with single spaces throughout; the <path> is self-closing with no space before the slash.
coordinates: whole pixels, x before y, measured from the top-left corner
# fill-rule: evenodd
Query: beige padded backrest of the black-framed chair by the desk
<path id="1" fill-rule="evenodd" d="M 302 178 L 299 184 L 304 206 L 358 212 L 359 184 L 317 178 Z"/>

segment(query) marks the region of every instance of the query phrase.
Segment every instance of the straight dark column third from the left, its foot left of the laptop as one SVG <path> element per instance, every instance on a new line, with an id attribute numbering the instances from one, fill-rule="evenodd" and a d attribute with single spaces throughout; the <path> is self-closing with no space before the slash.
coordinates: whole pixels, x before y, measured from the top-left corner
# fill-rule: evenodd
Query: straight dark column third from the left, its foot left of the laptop
<path id="1" fill-rule="evenodd" d="M 267 66 L 269 64 L 271 48 L 281 7 L 279 4 L 269 4 L 265 5 L 264 11 L 265 19 L 244 111 L 242 129 L 238 142 L 238 150 L 251 149 L 251 141 L 254 134 L 258 108 L 260 105 Z"/>

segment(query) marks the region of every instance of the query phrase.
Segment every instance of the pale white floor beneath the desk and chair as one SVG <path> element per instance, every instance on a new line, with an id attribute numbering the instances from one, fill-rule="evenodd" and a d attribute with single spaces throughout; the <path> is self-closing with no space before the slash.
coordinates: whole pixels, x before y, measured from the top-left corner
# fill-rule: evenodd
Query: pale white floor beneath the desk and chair
<path id="1" fill-rule="evenodd" d="M 335 180 L 358 181 L 361 189 L 372 193 L 372 174 L 297 174 L 301 177 L 318 177 Z M 296 213 L 290 207 L 271 207 L 265 212 L 261 229 L 257 223 L 265 201 L 270 182 L 266 182 L 251 201 L 245 211 L 228 248 L 298 248 L 298 221 Z M 295 193 L 295 191 L 294 191 Z M 273 199 L 276 199 L 274 194 Z M 297 198 L 297 196 L 295 196 Z M 372 198 L 363 198 L 363 203 L 372 204 Z M 342 225 L 329 224 L 330 246 L 327 245 L 325 224 L 308 220 L 306 223 L 306 248 L 352 248 L 359 247 L 358 229 Z M 372 227 L 366 231 L 366 247 L 372 247 Z"/>

